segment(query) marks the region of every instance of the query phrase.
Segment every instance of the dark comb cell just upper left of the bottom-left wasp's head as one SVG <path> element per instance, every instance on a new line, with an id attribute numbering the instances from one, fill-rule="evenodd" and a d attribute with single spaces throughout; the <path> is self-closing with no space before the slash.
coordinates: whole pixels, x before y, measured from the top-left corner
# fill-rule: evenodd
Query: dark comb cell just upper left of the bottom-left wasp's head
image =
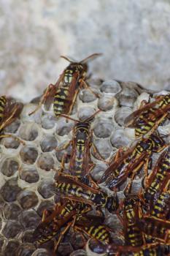
<path id="1" fill-rule="evenodd" d="M 23 211 L 22 214 L 20 214 L 20 223 L 26 229 L 35 229 L 39 225 L 40 221 L 41 218 L 34 210 Z"/>

